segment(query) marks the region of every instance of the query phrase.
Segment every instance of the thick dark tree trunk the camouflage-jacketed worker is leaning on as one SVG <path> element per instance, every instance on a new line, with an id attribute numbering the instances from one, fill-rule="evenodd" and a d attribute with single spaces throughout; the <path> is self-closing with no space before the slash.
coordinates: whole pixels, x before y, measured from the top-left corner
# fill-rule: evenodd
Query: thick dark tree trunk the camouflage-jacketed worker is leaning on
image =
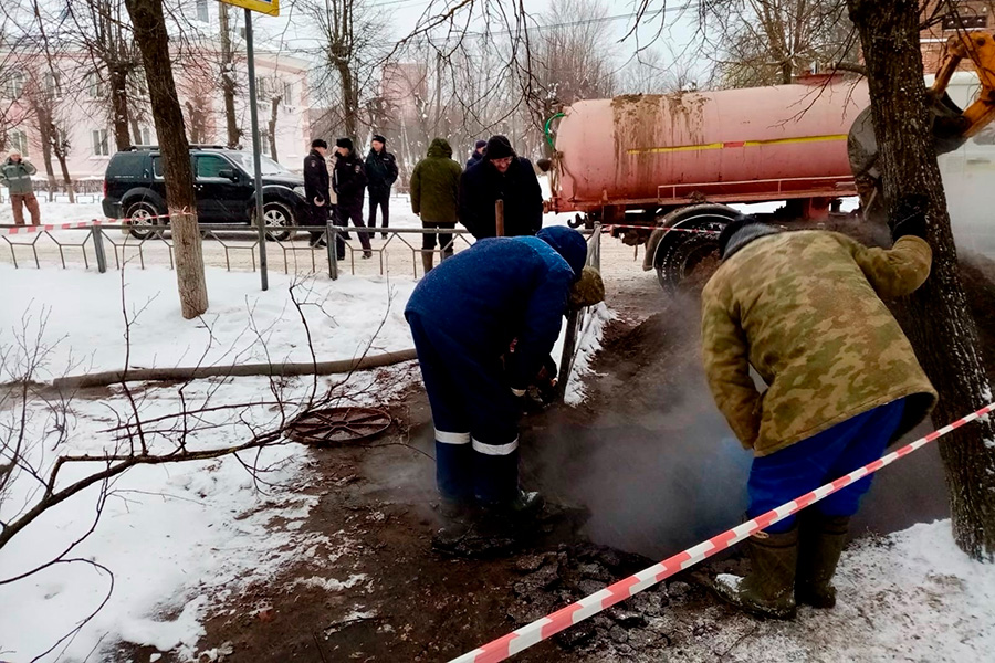
<path id="1" fill-rule="evenodd" d="M 933 412 L 946 424 L 992 400 L 977 329 L 957 270 L 946 198 L 936 165 L 923 84 L 917 0 L 848 0 L 867 63 L 871 114 L 890 218 L 910 196 L 929 200 L 930 278 L 909 299 L 908 329 L 940 392 Z M 995 423 L 985 419 L 940 441 L 954 538 L 971 557 L 995 559 Z"/>

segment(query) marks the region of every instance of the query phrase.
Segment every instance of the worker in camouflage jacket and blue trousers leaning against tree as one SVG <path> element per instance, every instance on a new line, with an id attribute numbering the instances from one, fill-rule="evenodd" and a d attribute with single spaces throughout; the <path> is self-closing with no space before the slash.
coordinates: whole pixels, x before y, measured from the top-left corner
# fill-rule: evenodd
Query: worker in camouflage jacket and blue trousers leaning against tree
<path id="1" fill-rule="evenodd" d="M 750 517 L 877 460 L 935 403 L 881 301 L 911 294 L 930 274 L 920 207 L 903 207 L 892 249 L 835 232 L 781 232 L 752 218 L 720 235 L 722 264 L 702 293 L 702 350 L 719 409 L 754 452 Z M 750 573 L 720 576 L 719 594 L 781 619 L 797 603 L 835 606 L 830 581 L 870 482 L 751 537 Z"/>

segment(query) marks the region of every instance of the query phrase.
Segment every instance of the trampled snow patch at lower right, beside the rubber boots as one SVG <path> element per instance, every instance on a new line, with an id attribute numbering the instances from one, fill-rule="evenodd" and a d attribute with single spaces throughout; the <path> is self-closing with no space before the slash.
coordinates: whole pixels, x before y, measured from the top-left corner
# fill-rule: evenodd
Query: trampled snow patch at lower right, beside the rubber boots
<path id="1" fill-rule="evenodd" d="M 834 610 L 803 608 L 794 622 L 737 614 L 681 660 L 714 661 L 716 652 L 743 663 L 992 660 L 995 565 L 968 559 L 950 520 L 857 540 L 835 585 Z"/>

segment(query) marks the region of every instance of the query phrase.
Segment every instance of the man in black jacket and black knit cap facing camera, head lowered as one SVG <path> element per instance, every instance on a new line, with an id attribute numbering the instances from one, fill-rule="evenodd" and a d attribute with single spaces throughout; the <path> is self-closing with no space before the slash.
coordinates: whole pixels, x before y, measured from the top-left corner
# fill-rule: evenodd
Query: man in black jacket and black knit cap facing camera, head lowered
<path id="1" fill-rule="evenodd" d="M 460 223 L 478 240 L 498 234 L 494 203 L 504 200 L 504 234 L 533 235 L 543 227 L 543 192 L 532 162 L 515 155 L 504 136 L 460 178 Z"/>

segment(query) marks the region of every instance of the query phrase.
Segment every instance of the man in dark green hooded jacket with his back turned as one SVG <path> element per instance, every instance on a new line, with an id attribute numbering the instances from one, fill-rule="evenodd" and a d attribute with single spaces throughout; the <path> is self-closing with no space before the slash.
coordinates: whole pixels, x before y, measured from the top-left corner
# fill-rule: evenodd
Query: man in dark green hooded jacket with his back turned
<path id="1" fill-rule="evenodd" d="M 444 138 L 436 138 L 426 157 L 411 173 L 411 211 L 421 217 L 426 229 L 452 230 L 457 224 L 460 198 L 460 165 L 452 160 L 452 147 Z M 421 235 L 421 264 L 425 273 L 432 270 L 436 233 Z M 442 257 L 452 255 L 452 233 L 438 234 Z"/>

